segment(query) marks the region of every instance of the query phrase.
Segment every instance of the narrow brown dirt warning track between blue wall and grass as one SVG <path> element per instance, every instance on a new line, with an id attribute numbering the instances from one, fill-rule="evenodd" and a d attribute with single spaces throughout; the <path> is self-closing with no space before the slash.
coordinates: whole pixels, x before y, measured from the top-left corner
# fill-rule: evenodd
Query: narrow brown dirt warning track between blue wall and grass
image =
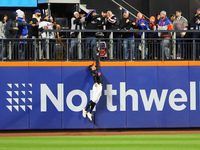
<path id="1" fill-rule="evenodd" d="M 157 135 L 157 134 L 200 134 L 200 129 L 169 130 L 64 130 L 64 131 L 0 131 L 0 137 L 32 136 L 107 136 L 107 135 Z"/>

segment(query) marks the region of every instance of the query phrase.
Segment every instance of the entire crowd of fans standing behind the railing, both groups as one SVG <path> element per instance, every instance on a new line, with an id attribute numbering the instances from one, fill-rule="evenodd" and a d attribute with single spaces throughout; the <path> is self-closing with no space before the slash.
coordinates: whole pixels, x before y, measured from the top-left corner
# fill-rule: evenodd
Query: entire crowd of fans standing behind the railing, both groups
<path id="1" fill-rule="evenodd" d="M 172 14 L 170 18 L 167 17 L 166 11 L 161 11 L 156 16 L 151 16 L 147 20 L 141 12 L 137 13 L 137 18 L 135 20 L 131 19 L 128 11 L 123 11 L 123 18 L 118 20 L 118 18 L 112 13 L 111 10 L 102 12 L 100 15 L 96 13 L 96 10 L 91 10 L 87 14 L 79 14 L 79 12 L 74 12 L 74 17 L 71 19 L 71 30 L 83 30 L 82 37 L 85 40 L 84 48 L 82 49 L 82 57 L 85 59 L 95 58 L 95 51 L 97 49 L 97 37 L 109 38 L 110 33 L 108 32 L 87 32 L 87 30 L 152 30 L 151 33 L 146 33 L 146 40 L 144 44 L 144 57 L 149 59 L 150 56 L 154 59 L 156 56 L 160 59 L 161 51 L 164 52 L 165 58 L 170 59 L 170 41 L 172 38 L 172 32 L 170 30 L 199 30 L 200 28 L 200 8 L 197 9 L 194 18 L 188 22 L 186 18 L 183 17 L 182 12 L 177 10 L 175 14 Z M 18 9 L 12 15 L 0 15 L 0 38 L 1 39 L 45 39 L 47 37 L 46 29 L 60 29 L 60 26 L 56 24 L 52 16 L 41 15 L 41 11 L 36 9 L 30 21 L 27 21 L 25 13 Z M 166 32 L 153 32 L 155 30 L 166 30 Z M 60 38 L 59 33 L 48 32 L 50 42 L 55 38 Z M 119 59 L 119 53 L 122 54 L 122 59 L 139 59 L 139 44 L 141 43 L 141 32 L 114 32 L 114 43 L 113 46 L 113 56 Z M 177 37 L 177 49 L 181 51 L 181 58 L 185 59 L 188 53 L 188 48 L 184 46 L 183 38 L 194 37 L 199 38 L 199 33 L 186 34 L 186 32 L 180 32 L 176 34 Z M 77 45 L 78 45 L 78 32 L 70 33 L 70 44 L 69 44 L 69 57 L 71 59 L 77 59 Z M 151 39 L 160 38 L 160 40 Z M 53 41 L 52 41 L 53 43 Z M 148 46 L 149 43 L 159 44 L 157 54 L 154 55 L 153 46 Z M 120 46 L 117 46 L 120 44 Z M 45 58 L 46 44 L 43 43 L 43 53 Z M 110 44 L 107 45 L 111 46 Z M 148 49 L 148 51 L 146 51 Z M 53 48 L 50 49 L 53 52 Z M 131 52 L 131 53 L 130 53 Z M 108 52 L 109 53 L 109 52 Z M 177 50 L 177 56 L 179 51 Z M 130 55 L 131 54 L 131 55 Z M 80 58 L 80 57 L 79 57 Z M 188 57 L 187 57 L 188 58 Z M 17 57 L 16 57 L 17 59 Z"/>

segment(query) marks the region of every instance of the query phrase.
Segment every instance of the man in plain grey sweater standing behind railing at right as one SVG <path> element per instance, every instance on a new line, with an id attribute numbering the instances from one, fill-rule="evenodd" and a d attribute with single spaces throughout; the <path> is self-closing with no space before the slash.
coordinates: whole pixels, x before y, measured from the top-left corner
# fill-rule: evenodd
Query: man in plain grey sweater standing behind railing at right
<path id="1" fill-rule="evenodd" d="M 187 30 L 188 29 L 188 21 L 186 18 L 184 18 L 182 16 L 182 12 L 181 11 L 176 11 L 176 20 L 174 20 L 173 22 L 173 28 L 174 30 Z M 176 33 L 176 37 L 177 38 L 184 38 L 185 37 L 186 32 L 177 32 Z M 178 54 L 178 45 L 181 48 L 181 58 L 185 59 L 186 58 L 186 51 L 185 51 L 185 45 L 184 45 L 184 40 L 177 40 L 177 54 Z"/>

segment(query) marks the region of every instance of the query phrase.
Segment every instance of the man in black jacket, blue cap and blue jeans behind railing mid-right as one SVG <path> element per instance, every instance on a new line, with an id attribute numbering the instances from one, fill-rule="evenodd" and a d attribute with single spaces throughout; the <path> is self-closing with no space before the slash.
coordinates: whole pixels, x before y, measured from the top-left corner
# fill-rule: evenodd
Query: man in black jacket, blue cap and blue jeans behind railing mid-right
<path id="1" fill-rule="evenodd" d="M 121 30 L 131 30 L 137 28 L 137 23 L 133 22 L 129 18 L 129 12 L 127 10 L 123 11 L 123 18 L 119 21 L 119 28 Z M 124 59 L 129 58 L 129 47 L 130 52 L 132 52 L 132 59 L 136 58 L 136 52 L 135 52 L 135 37 L 132 32 L 124 32 L 122 34 L 123 38 L 123 50 L 124 50 Z"/>

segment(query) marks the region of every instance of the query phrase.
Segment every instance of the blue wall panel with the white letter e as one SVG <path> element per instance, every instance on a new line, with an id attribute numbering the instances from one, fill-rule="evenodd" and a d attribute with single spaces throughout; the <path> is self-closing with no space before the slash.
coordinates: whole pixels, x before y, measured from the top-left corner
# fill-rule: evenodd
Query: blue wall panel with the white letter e
<path id="1" fill-rule="evenodd" d="M 188 66 L 159 66 L 158 89 L 166 90 L 166 100 L 159 111 L 159 127 L 189 127 L 190 81 Z"/>

